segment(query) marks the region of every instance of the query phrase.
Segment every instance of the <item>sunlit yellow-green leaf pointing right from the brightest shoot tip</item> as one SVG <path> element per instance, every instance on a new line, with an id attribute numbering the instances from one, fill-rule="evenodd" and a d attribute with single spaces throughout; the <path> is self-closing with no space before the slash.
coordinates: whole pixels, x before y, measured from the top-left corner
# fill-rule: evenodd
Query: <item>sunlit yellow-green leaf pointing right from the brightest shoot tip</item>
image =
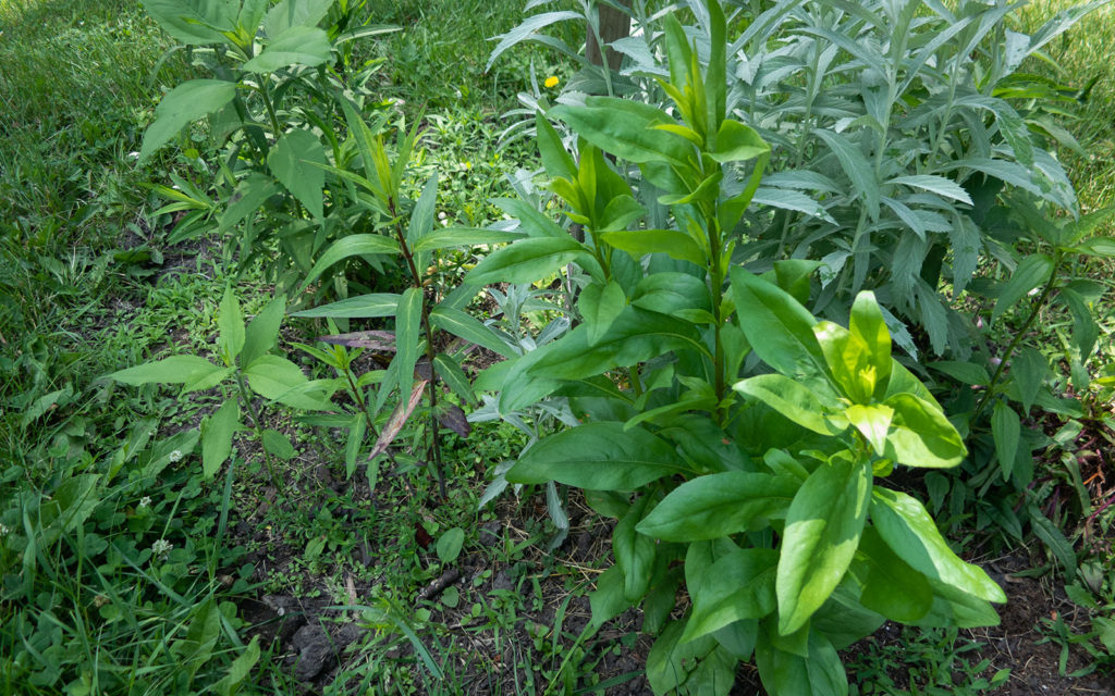
<path id="1" fill-rule="evenodd" d="M 949 468 L 959 464 L 968 449 L 940 408 L 913 394 L 894 394 L 885 402 L 894 409 L 886 457 L 906 467 Z"/>

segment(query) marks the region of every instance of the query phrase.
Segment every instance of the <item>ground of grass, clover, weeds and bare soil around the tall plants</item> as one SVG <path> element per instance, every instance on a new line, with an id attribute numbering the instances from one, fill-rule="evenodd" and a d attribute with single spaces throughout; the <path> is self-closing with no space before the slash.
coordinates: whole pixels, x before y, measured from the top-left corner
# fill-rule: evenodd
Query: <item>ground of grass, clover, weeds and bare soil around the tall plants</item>
<path id="1" fill-rule="evenodd" d="M 516 106 L 518 91 L 555 95 L 542 80 L 565 80 L 572 67 L 541 50 L 512 51 L 483 71 L 491 45 L 479 39 L 510 30 L 521 10 L 369 3 L 374 22 L 401 31 L 359 45 L 356 60 L 378 62 L 369 89 L 401 99 L 390 108 L 420 119 L 424 154 L 405 188 L 417 197 L 437 169 L 436 225 L 500 219 L 489 199 L 514 195 L 505 177 L 541 167 L 532 144 L 498 146 L 510 125 L 500 115 Z M 468 21 L 442 19 L 457 12 Z M 613 523 L 576 491 L 547 498 L 544 488 L 526 489 L 479 506 L 493 471 L 517 458 L 530 428 L 486 421 L 467 435 L 446 431 L 443 500 L 417 458 L 380 467 L 371 492 L 362 461 L 349 465 L 338 422 L 258 403 L 256 429 L 287 442 L 266 448 L 280 482 L 269 477 L 266 437 L 246 428 L 233 439 L 232 465 L 203 480 L 211 454 L 194 429 L 203 419 L 213 428 L 223 402 L 216 385 L 178 395 L 104 379 L 167 354 L 220 360 L 227 345 L 229 257 L 213 238 L 167 244 L 182 213 L 156 215 L 165 198 L 140 186 L 165 184 L 171 171 L 203 182 L 215 165 L 174 147 L 146 168 L 133 156 L 161 92 L 204 73 L 181 53 L 158 63 L 172 43 L 129 3 L 11 3 L 0 21 L 0 345 L 10 375 L 0 392 L 4 689 L 648 693 L 652 641 L 638 633 L 647 628 L 642 612 L 590 628 L 586 592 L 607 567 Z M 1067 70 L 1058 79 L 1083 86 L 1096 77 L 1089 47 L 1115 33 L 1112 21 L 1103 10 L 1050 47 Z M 576 30 L 566 31 L 575 45 Z M 1085 153 L 1064 157 L 1086 212 L 1109 204 L 1113 138 L 1104 115 L 1113 92 L 1109 73 L 1098 77 L 1082 118 L 1066 121 Z M 474 261 L 443 263 L 452 276 Z M 235 280 L 248 317 L 274 294 L 265 266 Z M 1098 263 L 1082 271 L 1109 282 Z M 495 301 L 482 308 L 518 314 Z M 555 314 L 529 306 L 525 323 L 541 329 Z M 1113 357 L 1109 305 L 1097 314 L 1094 364 L 1103 370 Z M 1072 326 L 1050 313 L 1031 331 L 1057 354 Z M 324 379 L 329 371 L 295 349 L 323 333 L 337 331 L 293 321 L 280 347 Z M 370 346 L 355 360 L 365 373 L 387 367 L 391 355 Z M 473 376 L 494 361 L 474 351 L 463 365 Z M 1002 624 L 959 631 L 888 624 L 844 651 L 857 693 L 1111 690 L 1104 621 L 1115 577 L 1112 508 L 1103 509 L 1115 476 L 1111 386 L 1088 389 L 1088 413 L 1035 412 L 1026 422 L 1056 442 L 1039 452 L 1034 500 L 1078 569 L 1066 577 L 1064 545 L 1049 530 L 1020 543 L 963 516 L 939 517 L 966 558 L 1006 589 Z M 404 430 L 397 449 L 419 451 L 423 437 Z M 946 504 L 928 482 L 910 477 L 903 486 L 928 488 L 934 513 Z M 561 516 L 565 531 L 554 522 Z M 677 612 L 688 601 L 679 597 Z M 759 688 L 755 668 L 741 667 L 733 693 Z"/>

